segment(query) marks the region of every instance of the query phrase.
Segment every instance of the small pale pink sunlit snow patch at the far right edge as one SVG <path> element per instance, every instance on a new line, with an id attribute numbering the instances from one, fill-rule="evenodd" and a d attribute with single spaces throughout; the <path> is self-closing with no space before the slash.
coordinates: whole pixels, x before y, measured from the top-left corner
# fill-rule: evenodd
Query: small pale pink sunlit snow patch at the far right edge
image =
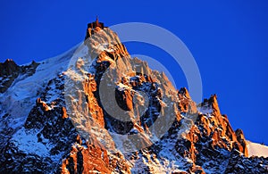
<path id="1" fill-rule="evenodd" d="M 248 156 L 268 157 L 268 146 L 247 141 Z"/>

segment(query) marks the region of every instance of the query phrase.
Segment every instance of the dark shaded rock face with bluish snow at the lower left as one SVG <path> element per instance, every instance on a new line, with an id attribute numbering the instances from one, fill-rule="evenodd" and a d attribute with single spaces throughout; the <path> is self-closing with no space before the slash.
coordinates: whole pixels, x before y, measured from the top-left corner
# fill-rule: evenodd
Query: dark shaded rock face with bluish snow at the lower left
<path id="1" fill-rule="evenodd" d="M 70 151 L 77 132 L 63 117 L 63 100 L 46 104 L 42 99 L 1 152 L 1 172 L 52 172 L 58 166 L 54 158 Z"/>

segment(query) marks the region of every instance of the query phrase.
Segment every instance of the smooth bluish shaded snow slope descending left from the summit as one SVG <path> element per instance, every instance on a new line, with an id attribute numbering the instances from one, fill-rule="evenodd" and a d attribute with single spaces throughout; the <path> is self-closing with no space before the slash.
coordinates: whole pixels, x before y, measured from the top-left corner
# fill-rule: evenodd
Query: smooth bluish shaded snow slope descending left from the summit
<path id="1" fill-rule="evenodd" d="M 32 76 L 19 75 L 13 81 L 13 85 L 4 94 L 0 94 L 1 113 L 9 113 L 16 120 L 25 120 L 38 95 L 45 89 L 47 82 L 67 69 L 76 47 L 74 46 L 64 54 L 39 62 L 40 64 Z M 20 122 L 23 123 L 23 121 Z M 14 123 L 10 123 L 10 127 L 14 127 Z"/>

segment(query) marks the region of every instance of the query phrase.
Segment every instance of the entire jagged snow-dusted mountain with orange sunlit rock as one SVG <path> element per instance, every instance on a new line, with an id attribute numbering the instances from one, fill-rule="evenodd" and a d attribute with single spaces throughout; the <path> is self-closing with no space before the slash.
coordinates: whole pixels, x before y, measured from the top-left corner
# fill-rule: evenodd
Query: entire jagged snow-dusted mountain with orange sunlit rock
<path id="1" fill-rule="evenodd" d="M 268 173 L 217 100 L 196 104 L 96 20 L 64 54 L 0 63 L 0 172 Z"/>

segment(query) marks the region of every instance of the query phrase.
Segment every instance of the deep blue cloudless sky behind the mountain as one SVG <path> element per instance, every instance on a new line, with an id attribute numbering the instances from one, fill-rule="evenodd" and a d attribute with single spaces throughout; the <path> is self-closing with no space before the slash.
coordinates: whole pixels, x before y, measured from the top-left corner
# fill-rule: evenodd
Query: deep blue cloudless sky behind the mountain
<path id="1" fill-rule="evenodd" d="M 96 15 L 106 26 L 140 21 L 169 29 L 195 57 L 204 97 L 218 95 L 222 113 L 247 139 L 268 144 L 267 1 L 1 1 L 0 62 L 22 64 L 62 54 L 85 37 Z M 152 46 L 129 45 L 130 54 L 158 56 Z M 169 64 L 168 64 L 169 65 Z M 172 67 L 177 87 L 186 86 Z M 181 83 L 180 83 L 181 81 Z"/>

